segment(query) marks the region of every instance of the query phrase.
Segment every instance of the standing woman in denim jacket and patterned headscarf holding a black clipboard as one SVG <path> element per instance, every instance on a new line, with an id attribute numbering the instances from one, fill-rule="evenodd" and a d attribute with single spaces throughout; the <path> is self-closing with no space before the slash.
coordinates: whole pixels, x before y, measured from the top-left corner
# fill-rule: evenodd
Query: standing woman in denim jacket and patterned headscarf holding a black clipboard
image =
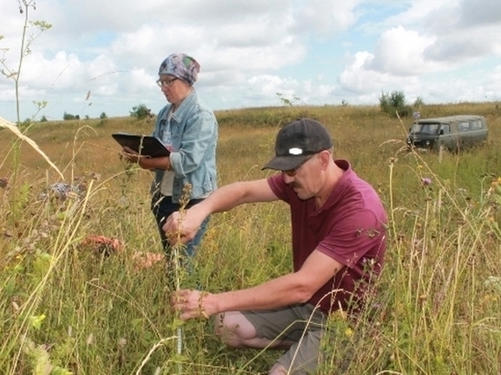
<path id="1" fill-rule="evenodd" d="M 191 56 L 173 54 L 162 61 L 157 84 L 169 104 L 158 113 L 153 136 L 169 148 L 169 157 L 139 157 L 124 147 L 130 162 L 155 170 L 151 185 L 151 208 L 157 219 L 162 245 L 169 250 L 162 226 L 169 215 L 185 203 L 183 189 L 189 188 L 186 208 L 199 203 L 217 188 L 216 146 L 218 121 L 193 88 L 199 73 L 199 63 Z M 184 199 L 184 198 L 183 198 Z M 197 236 L 186 247 L 191 257 L 207 228 L 209 219 L 199 228 Z"/>

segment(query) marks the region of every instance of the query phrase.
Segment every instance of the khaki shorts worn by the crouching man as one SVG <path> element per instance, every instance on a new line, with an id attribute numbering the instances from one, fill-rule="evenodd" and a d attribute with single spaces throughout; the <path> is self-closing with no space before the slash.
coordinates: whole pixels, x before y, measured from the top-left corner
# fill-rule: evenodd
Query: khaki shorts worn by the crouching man
<path id="1" fill-rule="evenodd" d="M 268 340 L 287 340 L 294 344 L 277 362 L 290 374 L 314 373 L 318 365 L 320 341 L 327 316 L 310 304 L 283 309 L 240 311 Z"/>

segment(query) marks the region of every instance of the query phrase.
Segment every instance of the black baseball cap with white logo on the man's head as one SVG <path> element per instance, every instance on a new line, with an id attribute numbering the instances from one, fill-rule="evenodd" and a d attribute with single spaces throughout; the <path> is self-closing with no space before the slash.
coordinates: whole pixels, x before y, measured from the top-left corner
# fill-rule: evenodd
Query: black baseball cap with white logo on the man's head
<path id="1" fill-rule="evenodd" d="M 308 157 L 332 147 L 323 125 L 311 118 L 298 118 L 282 127 L 275 141 L 275 157 L 261 169 L 291 170 Z"/>

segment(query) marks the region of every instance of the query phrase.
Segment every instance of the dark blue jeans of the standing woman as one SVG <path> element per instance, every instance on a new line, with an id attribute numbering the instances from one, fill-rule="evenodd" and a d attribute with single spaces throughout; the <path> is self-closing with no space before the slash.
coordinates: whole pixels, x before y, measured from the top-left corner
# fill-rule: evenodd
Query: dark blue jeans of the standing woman
<path id="1" fill-rule="evenodd" d="M 195 206 L 197 203 L 200 203 L 203 199 L 191 199 L 189 203 L 186 205 L 186 208 L 191 208 Z M 158 231 L 160 232 L 160 238 L 162 240 L 162 247 L 164 248 L 166 254 L 170 255 L 170 244 L 169 239 L 166 237 L 165 232 L 162 227 L 164 226 L 167 218 L 169 216 L 179 211 L 180 205 L 179 203 L 173 203 L 172 197 L 161 196 L 160 194 L 155 194 L 151 199 L 151 210 L 157 219 Z M 188 257 L 193 257 L 195 252 L 197 251 L 197 247 L 199 246 L 200 240 L 203 237 L 205 231 L 207 230 L 207 224 L 209 223 L 210 217 L 205 218 L 200 225 L 199 231 L 196 236 L 191 239 L 185 246 L 185 254 Z"/>

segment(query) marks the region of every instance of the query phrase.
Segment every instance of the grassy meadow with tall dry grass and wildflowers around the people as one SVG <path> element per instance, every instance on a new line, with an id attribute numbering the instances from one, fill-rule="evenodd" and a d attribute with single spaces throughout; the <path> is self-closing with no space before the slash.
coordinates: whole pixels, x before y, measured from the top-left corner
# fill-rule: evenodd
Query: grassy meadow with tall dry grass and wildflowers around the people
<path id="1" fill-rule="evenodd" d="M 274 137 L 296 117 L 329 127 L 334 156 L 379 192 L 390 218 L 386 264 L 371 311 L 353 327 L 333 314 L 318 374 L 501 374 L 501 109 L 424 106 L 422 117 L 485 116 L 485 145 L 448 153 L 405 147 L 409 118 L 377 106 L 219 111 L 220 186 L 270 176 Z M 230 350 L 212 320 L 181 323 L 169 309 L 172 261 L 149 211 L 150 172 L 119 158 L 117 131 L 149 134 L 133 117 L 37 123 L 26 131 L 59 169 L 0 129 L 0 373 L 265 374 L 276 351 Z M 64 198 L 56 182 L 81 189 Z M 95 246 L 104 236 L 118 244 Z M 183 286 L 241 289 L 291 271 L 285 204 L 211 218 Z M 138 258 L 139 254 L 139 258 Z M 176 259 L 174 259 L 176 260 Z M 179 328 L 182 327 L 182 340 Z M 182 350 L 179 343 L 182 342 Z"/>

